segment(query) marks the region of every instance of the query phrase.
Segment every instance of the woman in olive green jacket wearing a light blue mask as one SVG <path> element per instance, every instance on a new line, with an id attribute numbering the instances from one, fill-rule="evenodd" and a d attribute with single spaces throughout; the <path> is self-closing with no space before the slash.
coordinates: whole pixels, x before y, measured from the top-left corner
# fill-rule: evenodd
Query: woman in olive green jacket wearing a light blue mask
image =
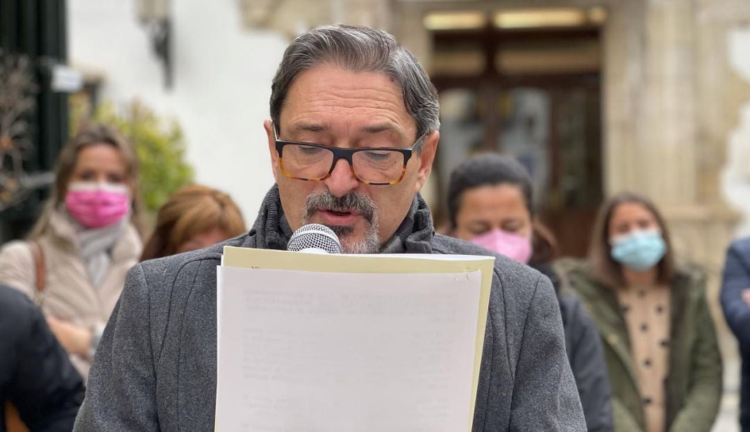
<path id="1" fill-rule="evenodd" d="M 586 262 L 557 263 L 604 342 L 615 430 L 710 431 L 721 356 L 706 279 L 674 264 L 664 219 L 643 196 L 602 205 Z"/>

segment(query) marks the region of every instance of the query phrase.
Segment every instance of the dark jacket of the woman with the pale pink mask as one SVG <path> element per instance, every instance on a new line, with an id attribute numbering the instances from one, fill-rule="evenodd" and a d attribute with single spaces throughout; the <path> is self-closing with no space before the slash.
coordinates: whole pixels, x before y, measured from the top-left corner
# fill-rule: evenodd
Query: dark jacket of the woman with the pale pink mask
<path id="1" fill-rule="evenodd" d="M 550 278 L 557 293 L 565 350 L 586 416 L 586 428 L 589 432 L 613 431 L 607 363 L 596 326 L 574 296 L 560 293 L 559 276 L 550 264 L 532 263 L 531 266 Z"/>

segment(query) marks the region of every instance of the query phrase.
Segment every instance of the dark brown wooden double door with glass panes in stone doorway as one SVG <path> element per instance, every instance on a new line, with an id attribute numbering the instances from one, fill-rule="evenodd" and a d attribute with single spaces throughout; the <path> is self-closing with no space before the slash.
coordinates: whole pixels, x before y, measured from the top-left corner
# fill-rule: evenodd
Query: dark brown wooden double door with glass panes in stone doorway
<path id="1" fill-rule="evenodd" d="M 583 256 L 603 196 L 598 28 L 440 31 L 438 195 L 471 154 L 516 157 L 562 256 Z M 560 54 L 562 52 L 562 54 Z M 551 60 L 549 60 L 551 58 Z M 446 202 L 436 211 L 446 219 Z"/>

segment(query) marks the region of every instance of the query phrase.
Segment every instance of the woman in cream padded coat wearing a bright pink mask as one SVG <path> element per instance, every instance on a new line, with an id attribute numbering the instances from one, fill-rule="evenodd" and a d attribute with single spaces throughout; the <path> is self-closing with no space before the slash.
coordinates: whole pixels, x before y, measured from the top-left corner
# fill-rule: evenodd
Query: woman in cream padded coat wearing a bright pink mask
<path id="1" fill-rule="evenodd" d="M 26 241 L 0 249 L 0 283 L 26 293 L 88 377 L 125 273 L 142 251 L 133 148 L 113 127 L 62 149 L 52 196 Z"/>

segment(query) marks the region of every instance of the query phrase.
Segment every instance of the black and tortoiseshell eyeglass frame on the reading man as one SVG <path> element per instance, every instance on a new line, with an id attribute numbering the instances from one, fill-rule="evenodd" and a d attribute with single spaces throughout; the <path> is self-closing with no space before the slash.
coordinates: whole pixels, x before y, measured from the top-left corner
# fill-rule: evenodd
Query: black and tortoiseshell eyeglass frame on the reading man
<path id="1" fill-rule="evenodd" d="M 296 180 L 305 180 L 305 181 L 324 181 L 326 178 L 329 178 L 331 176 L 331 173 L 336 167 L 336 163 L 338 163 L 338 160 L 344 159 L 349 163 L 349 169 L 352 170 L 352 175 L 362 184 L 369 184 L 371 186 L 392 186 L 393 184 L 401 183 L 401 180 L 404 180 L 404 175 L 407 173 L 407 164 L 409 163 L 409 160 L 412 158 L 413 154 L 419 151 L 419 146 L 424 144 L 425 137 L 428 136 L 428 133 L 422 133 L 419 138 L 416 139 L 414 144 L 411 145 L 411 147 L 365 147 L 365 148 L 339 148 L 339 147 L 332 147 L 330 145 L 323 145 L 323 144 L 317 144 L 316 142 L 304 142 L 304 141 L 288 141 L 287 139 L 279 139 L 278 137 L 278 131 L 276 130 L 276 125 L 272 124 L 271 128 L 274 131 L 274 141 L 275 141 L 275 147 L 276 152 L 279 155 L 279 167 L 281 168 L 281 173 L 284 174 L 287 178 L 294 178 Z M 316 148 L 323 148 L 325 150 L 329 150 L 333 153 L 333 161 L 331 162 L 331 168 L 329 169 L 329 172 L 326 172 L 326 175 L 323 175 L 321 178 L 304 178 L 304 177 L 296 177 L 294 175 L 291 175 L 290 172 L 288 172 L 286 169 L 284 169 L 284 145 L 288 144 L 294 144 L 294 145 L 306 145 L 309 147 L 316 147 Z M 404 156 L 404 167 L 401 169 L 401 176 L 398 178 L 398 180 L 392 180 L 392 181 L 367 181 L 363 180 L 362 178 L 359 178 L 359 175 L 354 170 L 354 161 L 352 159 L 352 156 L 358 152 L 358 151 L 398 151 Z"/>

